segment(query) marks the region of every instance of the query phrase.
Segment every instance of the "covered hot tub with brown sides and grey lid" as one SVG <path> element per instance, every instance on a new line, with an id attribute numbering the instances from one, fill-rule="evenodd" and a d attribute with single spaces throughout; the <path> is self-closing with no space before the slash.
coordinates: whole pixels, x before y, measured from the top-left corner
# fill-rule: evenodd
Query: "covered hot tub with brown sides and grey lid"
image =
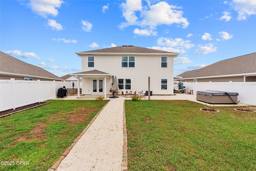
<path id="1" fill-rule="evenodd" d="M 196 99 L 210 104 L 237 104 L 238 93 L 225 91 L 196 91 Z"/>

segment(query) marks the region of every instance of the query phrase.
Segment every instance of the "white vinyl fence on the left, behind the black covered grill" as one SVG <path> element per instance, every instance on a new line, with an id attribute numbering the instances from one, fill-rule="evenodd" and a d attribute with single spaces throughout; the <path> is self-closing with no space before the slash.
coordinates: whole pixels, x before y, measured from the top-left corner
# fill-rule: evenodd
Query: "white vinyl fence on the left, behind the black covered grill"
<path id="1" fill-rule="evenodd" d="M 55 99 L 64 82 L 0 80 L 0 111 Z"/>

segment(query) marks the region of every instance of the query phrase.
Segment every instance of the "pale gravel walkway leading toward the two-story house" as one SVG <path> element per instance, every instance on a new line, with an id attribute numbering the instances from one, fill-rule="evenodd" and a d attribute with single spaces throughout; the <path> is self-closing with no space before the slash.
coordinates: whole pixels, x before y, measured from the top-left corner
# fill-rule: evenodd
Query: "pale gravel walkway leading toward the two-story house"
<path id="1" fill-rule="evenodd" d="M 56 171 L 122 171 L 124 98 L 111 99 Z"/>

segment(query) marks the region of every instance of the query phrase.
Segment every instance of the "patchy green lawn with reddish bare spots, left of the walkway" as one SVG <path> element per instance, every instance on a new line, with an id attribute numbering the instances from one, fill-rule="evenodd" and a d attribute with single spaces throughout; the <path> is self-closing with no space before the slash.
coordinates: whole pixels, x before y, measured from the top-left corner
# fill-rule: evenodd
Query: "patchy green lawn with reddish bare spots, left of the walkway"
<path id="1" fill-rule="evenodd" d="M 0 118 L 0 161 L 15 163 L 0 171 L 48 170 L 107 102 L 52 100 Z"/>

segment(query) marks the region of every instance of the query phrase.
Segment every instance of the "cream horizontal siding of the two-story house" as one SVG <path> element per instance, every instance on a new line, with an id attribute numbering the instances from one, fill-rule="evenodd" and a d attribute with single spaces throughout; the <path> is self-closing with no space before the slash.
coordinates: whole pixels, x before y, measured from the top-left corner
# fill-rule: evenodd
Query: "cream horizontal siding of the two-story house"
<path id="1" fill-rule="evenodd" d="M 92 55 L 90 55 L 92 56 Z M 168 56 L 168 67 L 161 68 L 161 56 L 135 56 L 135 67 L 122 67 L 121 56 L 94 56 L 94 67 L 88 67 L 87 56 L 82 56 L 82 71 L 99 70 L 116 76 L 117 79 L 131 79 L 131 89 L 137 91 L 148 90 L 148 77 L 150 77 L 150 90 L 153 94 L 173 94 L 173 57 Z M 167 90 L 161 89 L 161 79 L 167 80 Z M 91 92 L 92 84 L 83 78 L 83 94 Z M 90 85 L 89 85 L 90 83 Z M 107 92 L 112 87 L 112 79 L 107 79 Z M 89 93 L 90 94 L 90 93 Z"/>

